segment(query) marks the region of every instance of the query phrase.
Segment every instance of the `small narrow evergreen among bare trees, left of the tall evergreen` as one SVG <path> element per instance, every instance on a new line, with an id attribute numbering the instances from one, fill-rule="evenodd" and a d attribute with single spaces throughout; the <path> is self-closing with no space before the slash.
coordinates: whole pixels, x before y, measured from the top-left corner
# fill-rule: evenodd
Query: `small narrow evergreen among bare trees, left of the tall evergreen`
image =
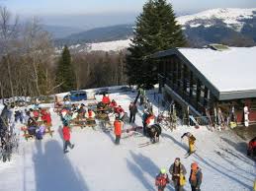
<path id="1" fill-rule="evenodd" d="M 60 92 L 69 92 L 76 88 L 74 70 L 71 65 L 71 56 L 66 45 L 59 59 L 56 79 L 57 84 L 60 84 Z"/>

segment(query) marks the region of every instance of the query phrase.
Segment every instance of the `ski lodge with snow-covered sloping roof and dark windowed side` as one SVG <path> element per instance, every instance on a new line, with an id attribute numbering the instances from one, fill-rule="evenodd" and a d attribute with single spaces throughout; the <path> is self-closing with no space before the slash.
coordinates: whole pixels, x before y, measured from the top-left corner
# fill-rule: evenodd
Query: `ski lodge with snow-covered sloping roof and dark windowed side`
<path id="1" fill-rule="evenodd" d="M 196 116 L 220 108 L 227 117 L 234 108 L 243 122 L 244 106 L 256 121 L 256 47 L 173 48 L 150 56 L 158 63 L 159 91 L 165 99 Z"/>

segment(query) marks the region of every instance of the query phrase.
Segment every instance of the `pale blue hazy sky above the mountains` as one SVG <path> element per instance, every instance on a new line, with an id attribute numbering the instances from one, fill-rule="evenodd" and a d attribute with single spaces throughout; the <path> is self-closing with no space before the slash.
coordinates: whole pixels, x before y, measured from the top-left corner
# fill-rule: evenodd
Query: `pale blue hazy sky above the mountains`
<path id="1" fill-rule="evenodd" d="M 13 14 L 36 16 L 47 25 L 93 28 L 133 23 L 147 0 L 0 0 Z M 256 0 L 168 0 L 177 15 L 213 8 L 254 8 Z M 80 25 L 83 18 L 87 25 Z M 90 22 L 91 21 L 91 22 Z"/>

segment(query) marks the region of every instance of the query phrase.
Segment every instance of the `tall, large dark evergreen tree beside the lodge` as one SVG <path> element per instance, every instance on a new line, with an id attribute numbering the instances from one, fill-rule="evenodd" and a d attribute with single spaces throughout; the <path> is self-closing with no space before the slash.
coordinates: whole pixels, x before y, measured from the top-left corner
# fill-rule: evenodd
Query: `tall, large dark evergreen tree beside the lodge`
<path id="1" fill-rule="evenodd" d="M 146 57 L 160 50 L 184 46 L 186 40 L 166 0 L 148 0 L 135 25 L 127 56 L 128 84 L 149 89 L 157 83 L 157 66 Z"/>

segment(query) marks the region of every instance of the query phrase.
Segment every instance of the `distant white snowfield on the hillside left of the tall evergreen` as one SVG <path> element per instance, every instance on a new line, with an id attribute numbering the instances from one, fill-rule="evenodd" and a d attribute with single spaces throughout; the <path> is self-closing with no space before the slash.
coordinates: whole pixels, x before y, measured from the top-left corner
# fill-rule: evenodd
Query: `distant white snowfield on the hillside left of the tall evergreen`
<path id="1" fill-rule="evenodd" d="M 91 43 L 90 51 L 120 51 L 126 49 L 130 43 L 130 39 Z"/>

